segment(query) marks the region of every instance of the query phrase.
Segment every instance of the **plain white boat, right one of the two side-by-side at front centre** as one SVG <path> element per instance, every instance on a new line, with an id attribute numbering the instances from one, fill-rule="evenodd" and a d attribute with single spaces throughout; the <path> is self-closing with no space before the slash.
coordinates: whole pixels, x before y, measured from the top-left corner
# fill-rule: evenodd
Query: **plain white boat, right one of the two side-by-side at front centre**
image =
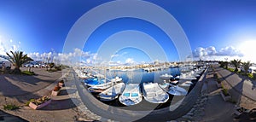
<path id="1" fill-rule="evenodd" d="M 152 103 L 165 103 L 169 99 L 169 95 L 157 83 L 143 83 L 143 96 Z"/>

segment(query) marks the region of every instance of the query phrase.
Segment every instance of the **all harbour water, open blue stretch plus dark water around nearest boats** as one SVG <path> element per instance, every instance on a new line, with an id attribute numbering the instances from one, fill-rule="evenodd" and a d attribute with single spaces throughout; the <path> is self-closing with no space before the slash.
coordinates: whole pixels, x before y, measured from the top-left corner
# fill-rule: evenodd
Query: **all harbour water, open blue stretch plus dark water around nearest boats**
<path id="1" fill-rule="evenodd" d="M 90 71 L 89 71 L 90 72 Z M 95 72 L 95 71 L 94 71 Z M 105 71 L 96 70 L 97 73 L 105 74 Z M 142 84 L 143 82 L 155 82 L 155 83 L 163 83 L 163 79 L 160 78 L 160 75 L 162 74 L 172 74 L 172 76 L 179 75 L 180 69 L 178 67 L 173 68 L 166 68 L 164 70 L 154 71 L 154 72 L 146 72 L 143 69 L 137 69 L 133 71 L 120 71 L 120 70 L 107 70 L 106 75 L 107 78 L 114 78 L 115 76 L 119 76 L 123 78 L 123 81 L 125 83 L 129 84 Z M 194 85 L 191 85 L 190 87 L 183 87 L 185 90 L 192 90 Z M 93 94 L 96 96 L 96 98 L 100 101 L 100 98 L 97 96 L 97 94 Z M 185 96 L 172 96 L 169 95 L 169 100 L 166 103 L 160 103 L 160 104 L 154 104 L 147 102 L 143 99 L 142 102 L 138 103 L 137 105 L 125 107 L 123 104 L 119 102 L 119 99 L 115 99 L 111 102 L 103 102 L 108 105 L 114 106 L 114 107 L 121 107 L 124 109 L 129 110 L 152 110 L 152 109 L 160 109 L 163 107 L 169 107 L 172 104 L 175 104 L 176 102 L 179 102 L 181 99 L 183 99 Z"/>

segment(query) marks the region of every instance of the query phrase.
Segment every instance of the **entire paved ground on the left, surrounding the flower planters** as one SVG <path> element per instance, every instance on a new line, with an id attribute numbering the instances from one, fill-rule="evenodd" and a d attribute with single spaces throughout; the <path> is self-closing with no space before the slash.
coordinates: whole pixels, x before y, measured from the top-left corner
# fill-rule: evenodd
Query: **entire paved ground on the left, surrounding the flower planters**
<path id="1" fill-rule="evenodd" d="M 26 70 L 26 68 L 21 68 Z M 24 106 L 24 103 L 32 98 L 40 96 L 50 96 L 51 90 L 61 80 L 61 72 L 48 73 L 44 68 L 32 68 L 37 76 L 24 75 L 0 75 L 0 109 L 3 110 L 4 104 L 15 104 L 20 109 L 15 111 L 3 110 L 5 113 L 0 115 L 4 121 L 67 121 L 73 122 L 80 119 L 88 119 L 84 113 L 80 113 L 79 108 L 74 105 L 67 87 L 61 88 L 60 96 L 52 96 L 52 102 L 39 110 L 33 110 Z M 17 118 L 19 116 L 22 119 Z"/>

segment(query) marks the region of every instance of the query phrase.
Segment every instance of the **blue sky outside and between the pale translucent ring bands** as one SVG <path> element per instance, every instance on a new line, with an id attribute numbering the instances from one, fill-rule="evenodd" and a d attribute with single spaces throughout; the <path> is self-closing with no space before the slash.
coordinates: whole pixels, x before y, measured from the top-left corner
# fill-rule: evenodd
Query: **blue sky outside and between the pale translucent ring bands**
<path id="1" fill-rule="evenodd" d="M 9 49 L 21 49 L 34 58 L 42 55 L 61 55 L 67 34 L 73 24 L 90 9 L 107 2 L 102 0 L 0 1 L 0 53 L 3 54 Z M 256 1 L 149 0 L 147 2 L 160 6 L 177 20 L 189 40 L 195 58 L 207 60 L 218 59 L 219 56 L 232 56 L 230 59 L 256 61 L 254 57 L 248 56 L 248 54 L 252 55 L 249 49 L 253 50 L 252 45 L 256 44 Z M 172 39 L 168 38 L 158 26 L 146 20 L 120 18 L 109 20 L 90 35 L 82 52 L 84 61 L 90 62 L 96 59 L 95 55 L 101 44 L 114 33 L 125 30 L 148 34 L 164 49 L 168 61 L 179 60 Z M 152 48 L 153 45 L 146 43 L 145 46 Z M 77 49 L 73 54 L 78 52 Z M 123 57 L 115 56 L 113 61 L 141 62 L 149 59 L 147 52 L 135 48 L 120 49 L 113 55 L 121 55 L 124 52 L 127 54 L 122 55 Z"/>

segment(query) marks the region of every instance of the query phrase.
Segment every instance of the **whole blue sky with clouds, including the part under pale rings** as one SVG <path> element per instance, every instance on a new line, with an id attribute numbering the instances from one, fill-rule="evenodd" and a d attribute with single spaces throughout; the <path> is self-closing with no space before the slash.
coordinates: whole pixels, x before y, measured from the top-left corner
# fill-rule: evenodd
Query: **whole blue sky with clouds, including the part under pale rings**
<path id="1" fill-rule="evenodd" d="M 45 61 L 49 57 L 55 61 L 79 59 L 86 63 L 104 60 L 116 63 L 181 60 L 180 50 L 183 49 L 177 47 L 179 39 L 170 37 L 161 27 L 169 26 L 168 21 L 171 20 L 167 20 L 166 16 L 160 15 L 161 12 L 155 9 L 148 12 L 137 10 L 139 1 L 136 0 L 131 9 L 120 9 L 112 5 L 113 13 L 99 10 L 92 13 L 95 15 L 89 18 L 92 21 L 82 24 L 89 28 L 100 21 L 98 18 L 105 19 L 117 12 L 132 10 L 133 14 L 148 15 L 152 20 L 159 18 L 167 22 L 157 25 L 144 18 L 119 17 L 97 26 L 84 40 L 68 40 L 68 33 L 75 29 L 74 25 L 82 20 L 83 15 L 108 2 L 113 1 L 0 1 L 0 55 L 5 55 L 9 50 L 23 50 L 38 61 Z M 256 1 L 146 2 L 160 7 L 177 21 L 189 41 L 187 46 L 192 51 L 187 54 L 189 58 L 239 58 L 256 62 L 256 55 L 253 54 L 256 45 Z M 144 8 L 147 8 L 146 5 Z M 87 28 L 82 29 L 86 31 Z M 171 28 L 171 31 L 176 32 L 175 29 Z M 79 44 L 79 41 L 84 41 L 84 44 L 71 46 L 72 49 L 63 52 L 67 40 L 74 45 Z M 107 56 L 109 59 L 106 59 Z"/>

